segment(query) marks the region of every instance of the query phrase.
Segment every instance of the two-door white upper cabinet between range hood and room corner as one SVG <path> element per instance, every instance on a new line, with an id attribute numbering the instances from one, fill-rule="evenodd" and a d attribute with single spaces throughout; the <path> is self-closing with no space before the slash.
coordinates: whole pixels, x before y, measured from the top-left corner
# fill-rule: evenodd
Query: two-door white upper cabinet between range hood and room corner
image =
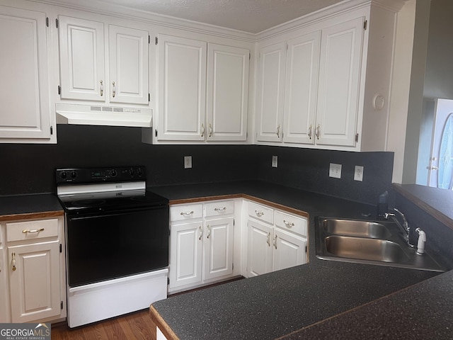
<path id="1" fill-rule="evenodd" d="M 156 141 L 246 141 L 249 50 L 159 34 Z"/>

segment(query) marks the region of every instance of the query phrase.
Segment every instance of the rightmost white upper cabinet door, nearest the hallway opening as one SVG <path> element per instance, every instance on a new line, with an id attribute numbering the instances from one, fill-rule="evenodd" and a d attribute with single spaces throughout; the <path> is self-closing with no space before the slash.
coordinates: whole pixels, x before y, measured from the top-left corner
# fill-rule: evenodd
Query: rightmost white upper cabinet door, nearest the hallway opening
<path id="1" fill-rule="evenodd" d="M 363 21 L 322 30 L 316 144 L 355 145 Z"/>

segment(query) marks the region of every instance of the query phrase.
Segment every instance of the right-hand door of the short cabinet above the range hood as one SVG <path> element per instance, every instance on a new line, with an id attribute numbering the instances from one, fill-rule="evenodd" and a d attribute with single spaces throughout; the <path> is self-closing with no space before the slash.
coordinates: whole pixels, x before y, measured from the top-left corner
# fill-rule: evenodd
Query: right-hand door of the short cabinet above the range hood
<path id="1" fill-rule="evenodd" d="M 110 103 L 148 103 L 148 32 L 109 25 Z"/>

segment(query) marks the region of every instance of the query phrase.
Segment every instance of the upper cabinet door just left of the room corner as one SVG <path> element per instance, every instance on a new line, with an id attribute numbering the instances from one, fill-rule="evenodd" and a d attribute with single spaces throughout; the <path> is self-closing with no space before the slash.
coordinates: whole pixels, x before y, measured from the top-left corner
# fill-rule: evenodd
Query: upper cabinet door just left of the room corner
<path id="1" fill-rule="evenodd" d="M 249 50 L 207 47 L 207 140 L 247 140 Z"/>

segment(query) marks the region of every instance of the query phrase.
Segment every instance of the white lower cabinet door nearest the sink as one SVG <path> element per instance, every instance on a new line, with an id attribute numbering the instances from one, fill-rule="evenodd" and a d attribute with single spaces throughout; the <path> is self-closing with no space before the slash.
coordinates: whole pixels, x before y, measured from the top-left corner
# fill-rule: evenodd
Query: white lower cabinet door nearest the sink
<path id="1" fill-rule="evenodd" d="M 306 239 L 275 228 L 273 245 L 274 271 L 306 263 Z"/>

